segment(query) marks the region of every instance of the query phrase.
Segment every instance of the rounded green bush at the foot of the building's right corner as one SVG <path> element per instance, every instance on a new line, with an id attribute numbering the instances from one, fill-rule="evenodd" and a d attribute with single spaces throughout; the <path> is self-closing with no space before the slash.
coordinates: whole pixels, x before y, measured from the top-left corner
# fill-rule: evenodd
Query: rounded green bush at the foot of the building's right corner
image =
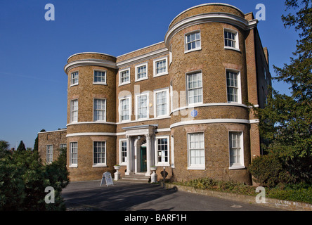
<path id="1" fill-rule="evenodd" d="M 248 170 L 254 181 L 261 186 L 273 187 L 292 181 L 290 174 L 283 169 L 280 159 L 273 154 L 257 156 Z"/>

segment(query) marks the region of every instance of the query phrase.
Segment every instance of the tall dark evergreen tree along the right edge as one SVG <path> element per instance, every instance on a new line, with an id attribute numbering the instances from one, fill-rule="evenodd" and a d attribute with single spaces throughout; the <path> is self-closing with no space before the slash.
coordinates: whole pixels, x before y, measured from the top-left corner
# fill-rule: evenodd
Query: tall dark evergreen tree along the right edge
<path id="1" fill-rule="evenodd" d="M 282 165 L 294 180 L 308 181 L 312 176 L 312 0 L 286 0 L 282 15 L 285 27 L 299 32 L 297 50 L 290 64 L 274 66 L 278 82 L 290 84 L 291 96 L 271 89 L 266 108 L 254 108 L 259 131 L 266 139 L 265 149 L 282 159 Z"/>

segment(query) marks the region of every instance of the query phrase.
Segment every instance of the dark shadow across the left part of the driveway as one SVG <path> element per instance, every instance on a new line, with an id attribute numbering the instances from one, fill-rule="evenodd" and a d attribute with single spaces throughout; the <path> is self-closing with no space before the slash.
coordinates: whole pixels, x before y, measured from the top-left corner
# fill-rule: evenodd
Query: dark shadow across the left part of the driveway
<path id="1" fill-rule="evenodd" d="M 69 211 L 127 211 L 131 207 L 167 197 L 176 189 L 164 189 L 157 184 L 129 184 L 114 182 L 114 186 L 100 186 L 100 181 L 74 182 L 62 192 Z M 151 211 L 146 208 L 142 211 Z M 169 211 L 172 208 L 161 209 Z"/>

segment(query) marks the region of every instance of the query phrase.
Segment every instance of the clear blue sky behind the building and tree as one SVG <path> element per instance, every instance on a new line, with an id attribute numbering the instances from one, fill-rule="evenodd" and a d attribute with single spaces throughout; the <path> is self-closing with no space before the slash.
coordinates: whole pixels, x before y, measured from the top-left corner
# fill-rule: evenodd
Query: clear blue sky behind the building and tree
<path id="1" fill-rule="evenodd" d="M 67 75 L 63 68 L 74 53 L 95 51 L 120 56 L 164 40 L 178 13 L 209 2 L 222 2 L 256 15 L 273 65 L 290 62 L 298 34 L 285 29 L 283 0 L 1 0 L 0 1 L 0 140 L 33 147 L 41 129 L 66 127 Z M 55 20 L 46 21 L 46 4 L 55 6 Z M 273 83 L 289 94 L 286 84 Z"/>

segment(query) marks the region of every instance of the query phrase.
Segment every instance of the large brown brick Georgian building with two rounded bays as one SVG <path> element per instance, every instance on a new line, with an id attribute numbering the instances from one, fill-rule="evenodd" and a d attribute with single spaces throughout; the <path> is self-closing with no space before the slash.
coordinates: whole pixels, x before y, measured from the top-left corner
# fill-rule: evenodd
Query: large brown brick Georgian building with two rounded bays
<path id="1" fill-rule="evenodd" d="M 271 85 L 257 22 L 235 6 L 202 4 L 177 15 L 160 43 L 70 56 L 67 129 L 39 133 L 42 158 L 66 143 L 72 181 L 118 164 L 122 177 L 157 166 L 158 177 L 164 167 L 178 181 L 252 184 L 247 166 L 261 138 L 247 102 L 263 108 Z"/>

